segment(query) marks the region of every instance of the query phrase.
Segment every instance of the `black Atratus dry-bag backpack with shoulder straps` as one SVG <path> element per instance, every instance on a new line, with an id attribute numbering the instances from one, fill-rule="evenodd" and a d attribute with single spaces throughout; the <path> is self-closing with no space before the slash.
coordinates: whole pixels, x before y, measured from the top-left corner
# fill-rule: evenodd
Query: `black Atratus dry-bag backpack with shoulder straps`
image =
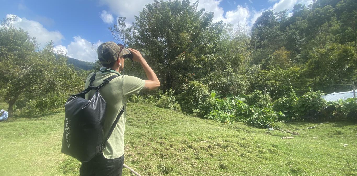
<path id="1" fill-rule="evenodd" d="M 71 95 L 65 104 L 65 122 L 63 127 L 62 153 L 72 156 L 81 162 L 88 162 L 101 154 L 115 125 L 124 112 L 124 106 L 112 124 L 109 134 L 104 138 L 104 113 L 106 102 L 99 94 L 99 89 L 118 75 L 105 79 L 97 87 L 93 86 L 96 73 L 90 78 L 89 87 L 79 94 Z M 96 89 L 90 100 L 85 95 Z"/>

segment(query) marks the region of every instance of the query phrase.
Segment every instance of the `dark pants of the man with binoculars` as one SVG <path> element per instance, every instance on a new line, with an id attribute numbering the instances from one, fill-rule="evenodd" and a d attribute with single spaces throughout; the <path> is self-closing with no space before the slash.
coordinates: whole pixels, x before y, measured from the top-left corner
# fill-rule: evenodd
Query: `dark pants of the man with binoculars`
<path id="1" fill-rule="evenodd" d="M 123 164 L 124 155 L 115 159 L 107 159 L 101 154 L 88 162 L 82 162 L 79 173 L 81 176 L 121 176 Z"/>

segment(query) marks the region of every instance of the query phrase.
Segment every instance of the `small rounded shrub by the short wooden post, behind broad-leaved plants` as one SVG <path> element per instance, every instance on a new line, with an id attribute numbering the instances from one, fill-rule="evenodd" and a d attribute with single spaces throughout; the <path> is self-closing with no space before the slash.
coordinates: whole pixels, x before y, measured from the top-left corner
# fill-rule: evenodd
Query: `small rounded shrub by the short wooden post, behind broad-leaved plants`
<path id="1" fill-rule="evenodd" d="M 272 103 L 270 96 L 263 95 L 260 90 L 255 90 L 251 94 L 246 95 L 246 100 L 248 105 L 255 105 L 260 108 L 267 107 Z"/>

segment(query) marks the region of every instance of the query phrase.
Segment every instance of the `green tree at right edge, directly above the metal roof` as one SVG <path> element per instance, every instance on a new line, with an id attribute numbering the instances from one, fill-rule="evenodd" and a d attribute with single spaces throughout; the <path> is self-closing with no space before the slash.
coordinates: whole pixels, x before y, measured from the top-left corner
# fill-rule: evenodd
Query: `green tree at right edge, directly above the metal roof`
<path id="1" fill-rule="evenodd" d="M 357 68 L 356 52 L 351 44 L 336 43 L 313 50 L 305 70 L 312 80 L 311 87 L 325 92 L 349 90 L 353 70 Z"/>

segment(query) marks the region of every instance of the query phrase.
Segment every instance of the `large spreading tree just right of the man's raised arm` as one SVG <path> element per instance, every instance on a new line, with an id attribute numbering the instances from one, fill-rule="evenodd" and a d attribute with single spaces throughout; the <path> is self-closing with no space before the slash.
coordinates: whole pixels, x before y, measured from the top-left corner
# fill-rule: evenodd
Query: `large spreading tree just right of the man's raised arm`
<path id="1" fill-rule="evenodd" d="M 164 90 L 172 87 L 177 76 L 188 79 L 195 71 L 209 65 L 214 57 L 217 43 L 223 30 L 222 22 L 213 23 L 213 13 L 197 11 L 198 1 L 190 5 L 190 1 L 154 1 L 146 5 L 133 23 L 134 43 L 146 60 L 158 71 Z M 182 53 L 185 57 L 179 58 Z M 187 57 L 193 62 L 190 68 L 179 65 Z M 207 62 L 206 62 L 207 61 Z M 182 62 L 181 62 L 182 63 Z M 188 81 L 189 82 L 189 81 Z"/>

